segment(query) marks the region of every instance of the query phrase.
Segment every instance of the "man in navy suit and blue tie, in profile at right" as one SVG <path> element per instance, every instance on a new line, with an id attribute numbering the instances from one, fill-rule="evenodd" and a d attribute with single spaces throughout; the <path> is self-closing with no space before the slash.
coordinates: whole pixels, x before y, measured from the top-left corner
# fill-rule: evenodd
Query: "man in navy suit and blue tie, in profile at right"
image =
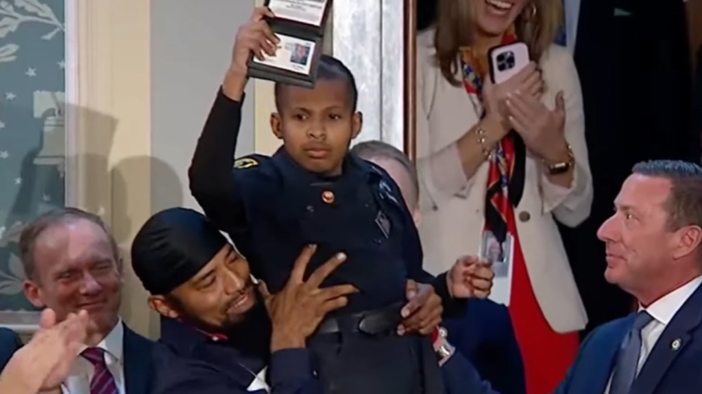
<path id="1" fill-rule="evenodd" d="M 583 342 L 557 394 L 687 394 L 702 387 L 702 168 L 634 167 L 597 232 L 604 277 L 639 311 Z"/>

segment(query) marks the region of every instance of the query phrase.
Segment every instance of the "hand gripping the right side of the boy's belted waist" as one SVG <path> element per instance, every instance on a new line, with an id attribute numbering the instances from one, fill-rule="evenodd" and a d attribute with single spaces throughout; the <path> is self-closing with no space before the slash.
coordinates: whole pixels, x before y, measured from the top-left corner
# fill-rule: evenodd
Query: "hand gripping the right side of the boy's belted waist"
<path id="1" fill-rule="evenodd" d="M 431 334 L 441 322 L 444 312 L 441 298 L 432 285 L 407 281 L 407 303 L 402 311 L 402 323 L 397 327 L 397 334 Z"/>

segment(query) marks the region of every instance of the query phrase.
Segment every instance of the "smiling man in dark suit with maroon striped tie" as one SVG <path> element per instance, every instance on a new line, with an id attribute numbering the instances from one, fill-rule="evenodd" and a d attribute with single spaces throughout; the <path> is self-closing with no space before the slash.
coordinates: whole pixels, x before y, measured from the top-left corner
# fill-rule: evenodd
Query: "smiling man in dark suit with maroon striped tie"
<path id="1" fill-rule="evenodd" d="M 119 318 L 122 260 L 100 217 L 76 208 L 48 212 L 22 231 L 20 251 L 25 295 L 34 306 L 53 309 L 59 321 L 81 310 L 89 315 L 86 349 L 63 391 L 148 394 L 152 342 Z"/>

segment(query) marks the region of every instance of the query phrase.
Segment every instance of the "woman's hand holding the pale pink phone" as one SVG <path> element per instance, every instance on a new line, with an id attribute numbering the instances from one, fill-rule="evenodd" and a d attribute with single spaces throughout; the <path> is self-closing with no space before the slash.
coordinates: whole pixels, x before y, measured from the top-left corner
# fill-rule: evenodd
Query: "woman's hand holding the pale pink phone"
<path id="1" fill-rule="evenodd" d="M 505 105 L 508 95 L 521 91 L 538 101 L 541 100 L 544 87 L 541 71 L 535 62 L 530 62 L 522 71 L 503 83 L 494 84 L 490 78 L 486 78 L 483 83 L 486 116 L 499 118 L 504 125 L 505 134 L 512 127 L 508 122 L 509 111 Z"/>

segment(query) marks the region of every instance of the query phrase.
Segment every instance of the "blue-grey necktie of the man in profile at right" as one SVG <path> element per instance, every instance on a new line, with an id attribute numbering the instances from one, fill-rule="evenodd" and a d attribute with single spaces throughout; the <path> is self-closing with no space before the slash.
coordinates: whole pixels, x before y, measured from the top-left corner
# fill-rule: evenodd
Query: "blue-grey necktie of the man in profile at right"
<path id="1" fill-rule="evenodd" d="M 614 367 L 614 376 L 609 388 L 609 394 L 628 394 L 631 385 L 636 379 L 641 355 L 641 330 L 654 318 L 647 311 L 640 311 L 636 315 L 634 324 L 621 344 Z"/>

